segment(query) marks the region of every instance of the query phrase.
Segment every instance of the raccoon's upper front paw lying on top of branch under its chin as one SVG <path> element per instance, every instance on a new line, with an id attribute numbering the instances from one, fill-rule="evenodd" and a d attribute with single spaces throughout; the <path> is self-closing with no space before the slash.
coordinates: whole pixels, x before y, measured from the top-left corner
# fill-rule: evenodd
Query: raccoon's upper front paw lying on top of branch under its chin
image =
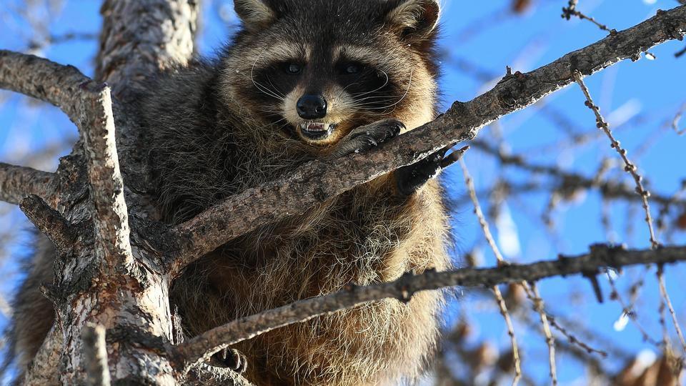
<path id="1" fill-rule="evenodd" d="M 337 158 L 351 153 L 366 152 L 388 139 L 397 137 L 404 128 L 405 125 L 395 119 L 384 119 L 358 127 L 341 140 L 331 156 Z"/>

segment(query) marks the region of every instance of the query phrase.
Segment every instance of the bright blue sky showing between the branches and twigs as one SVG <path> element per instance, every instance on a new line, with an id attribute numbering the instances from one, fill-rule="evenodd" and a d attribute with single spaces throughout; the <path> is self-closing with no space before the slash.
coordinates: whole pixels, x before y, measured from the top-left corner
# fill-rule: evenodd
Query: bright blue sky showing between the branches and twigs
<path id="1" fill-rule="evenodd" d="M 605 32 L 587 21 L 566 21 L 560 18 L 560 9 L 567 4 L 564 0 L 538 0 L 535 10 L 524 15 L 514 16 L 506 12 L 509 1 L 457 1 L 444 0 L 442 48 L 447 52 L 443 63 L 441 86 L 444 107 L 454 100 L 467 101 L 488 89 L 505 71 L 505 66 L 513 70 L 530 71 L 566 54 L 580 49 L 605 36 Z M 670 9 L 677 6 L 675 0 L 583 0 L 580 9 L 611 28 L 625 29 L 655 15 L 657 9 Z M 0 6 L 0 48 L 25 51 L 27 41 L 21 31 L 27 24 L 8 16 L 8 10 L 21 1 L 10 0 Z M 228 36 L 237 23 L 232 11 L 231 1 L 206 1 L 204 23 L 199 50 L 212 54 Z M 98 14 L 99 2 L 91 0 L 65 1 L 63 6 L 51 9 L 51 22 L 41 27 L 53 35 L 67 32 L 93 33 L 101 23 Z M 505 10 L 505 11 L 504 11 Z M 39 10 L 36 10 L 39 12 Z M 7 33 L 6 33 L 7 32 Z M 610 121 L 617 127 L 615 134 L 629 150 L 650 189 L 662 194 L 677 192 L 686 178 L 684 164 L 686 136 L 677 136 L 665 129 L 665 121 L 674 117 L 680 106 L 686 103 L 686 57 L 675 59 L 675 51 L 682 49 L 683 42 L 669 42 L 652 49 L 656 60 L 641 59 L 637 62 L 623 62 L 587 79 L 597 104 Z M 85 74 L 93 74 L 93 60 L 97 44 L 93 39 L 55 44 L 49 49 L 36 52 L 41 56 L 64 64 L 73 64 Z M 462 64 L 462 65 L 460 65 Z M 477 79 L 464 65 L 470 64 L 479 72 Z M 76 130 L 57 109 L 44 105 L 29 104 L 26 99 L 1 92 L 0 98 L 0 161 L 23 164 L 26 157 L 43 149 L 48 144 L 64 142 L 64 138 L 76 136 Z M 584 104 L 577 86 L 557 92 L 547 99 L 547 106 L 560 112 L 570 122 L 575 132 L 594 133 L 595 119 Z M 686 124 L 682 123 L 682 126 Z M 497 131 L 484 129 L 479 138 L 496 143 L 502 135 L 510 151 L 525 154 L 530 162 L 557 165 L 565 170 L 579 172 L 587 176 L 597 169 L 604 158 L 617 159 L 610 149 L 607 139 L 598 139 L 582 147 L 570 146 L 565 132 L 556 127 L 540 109 L 531 107 L 523 112 L 511 114 L 499 122 Z M 648 147 L 647 145 L 650 146 Z M 641 147 L 647 147 L 645 151 Z M 69 145 L 61 147 L 59 154 L 69 152 Z M 632 156 L 637 154 L 637 158 Z M 37 165 L 47 170 L 56 167 L 57 155 Z M 472 149 L 467 153 L 466 162 L 474 177 L 477 191 L 489 189 L 494 180 L 506 177 L 513 182 L 530 182 L 531 175 L 512 167 L 501 167 L 492 157 Z M 622 179 L 626 177 L 617 174 Z M 535 177 L 538 179 L 539 177 Z M 494 257 L 485 248 L 483 236 L 472 208 L 462 199 L 466 194 L 459 167 L 444 172 L 444 180 L 452 197 L 465 204 L 455 213 L 454 232 L 458 240 L 456 261 L 460 252 L 472 250 L 474 246 L 483 251 L 483 264 L 493 265 Z M 576 197 L 573 202 L 565 202 L 553 214 L 555 232 L 545 231 L 540 222 L 540 213 L 545 211 L 549 194 L 525 194 L 507 200 L 506 214 L 501 214 L 492 228 L 502 247 L 508 252 L 508 259 L 517 262 L 532 262 L 552 259 L 559 253 L 580 254 L 587 251 L 590 244 L 607 242 L 608 235 L 600 221 L 602 202 L 597 192 L 589 192 Z M 482 197 L 482 206 L 487 212 L 487 197 Z M 2 206 L 0 209 L 6 209 Z M 657 207 L 653 207 L 657 214 Z M 640 211 L 632 210 L 624 203 L 610 207 L 615 234 L 612 241 L 623 242 L 630 247 L 648 247 L 647 227 L 642 221 Z M 11 216 L 2 217 L 0 232 L 3 229 L 26 227 L 23 215 L 16 209 Z M 508 214 L 509 213 L 509 214 Z M 633 227 L 627 234 L 627 226 Z M 14 256 L 26 253 L 27 233 L 11 243 Z M 675 244 L 684 244 L 686 234 L 676 232 Z M 16 259 L 4 262 L 0 272 L 16 271 Z M 0 263 L 1 264 L 1 263 Z M 645 277 L 646 284 L 637 302 L 639 317 L 652 337 L 660 338 L 660 325 L 657 323 L 657 284 L 655 269 L 645 271 L 639 267 L 627 269 L 617 279 L 620 289 L 635 282 L 637 277 Z M 680 278 L 685 274 L 684 267 L 670 267 L 667 270 L 667 284 L 677 315 L 682 321 L 686 297 L 680 288 Z M 0 290 L 9 291 L 16 281 L 0 273 Z M 606 298 L 610 293 L 607 280 L 601 277 L 601 285 Z M 560 317 L 574 320 L 575 325 L 585 326 L 597 331 L 599 335 L 614 342 L 630 352 L 640 350 L 655 351 L 655 347 L 642 342 L 639 332 L 632 324 L 617 331 L 615 321 L 620 317 L 621 306 L 610 300 L 599 305 L 593 300 L 587 280 L 548 279 L 540 284 L 543 297 L 550 305 L 550 312 Z M 472 292 L 466 291 L 464 297 L 447 310 L 447 326 L 459 317 L 467 317 L 478 325 L 474 341 L 489 340 L 502 350 L 507 350 L 509 341 L 504 330 L 502 318 L 494 308 L 476 307 L 472 302 Z M 581 299 L 581 300 L 580 300 Z M 480 303 L 479 303 L 480 304 Z M 5 320 L 0 316 L 0 325 Z M 570 330 L 575 325 L 567 325 Z M 668 326 L 671 328 L 671 326 Z M 520 342 L 526 354 L 525 370 L 535 379 L 545 382 L 547 362 L 545 343 L 537 334 L 516 325 Z M 617 369 L 620 362 L 610 362 Z M 562 385 L 583 385 L 582 369 L 568 357 L 558 357 L 558 370 Z"/>

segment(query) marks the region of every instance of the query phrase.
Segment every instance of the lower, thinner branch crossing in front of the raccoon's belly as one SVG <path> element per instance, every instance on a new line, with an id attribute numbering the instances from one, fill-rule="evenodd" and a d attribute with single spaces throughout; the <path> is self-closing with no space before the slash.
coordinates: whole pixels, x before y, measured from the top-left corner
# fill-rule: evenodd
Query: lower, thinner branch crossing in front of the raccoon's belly
<path id="1" fill-rule="evenodd" d="M 686 261 L 685 247 L 659 249 L 624 249 L 594 245 L 590 252 L 575 257 L 560 256 L 557 260 L 531 264 L 509 264 L 495 268 L 462 268 L 448 272 L 428 271 L 424 274 L 405 274 L 394 282 L 367 287 L 349 285 L 341 292 L 301 300 L 257 315 L 209 330 L 175 348 L 174 363 L 179 370 L 188 371 L 194 365 L 237 342 L 251 339 L 278 327 L 305 322 L 337 310 L 357 307 L 365 302 L 396 298 L 410 300 L 415 292 L 444 287 L 493 287 L 497 284 L 535 282 L 546 277 L 583 274 L 592 277 L 603 267 L 621 268 L 637 264 L 667 264 Z"/>

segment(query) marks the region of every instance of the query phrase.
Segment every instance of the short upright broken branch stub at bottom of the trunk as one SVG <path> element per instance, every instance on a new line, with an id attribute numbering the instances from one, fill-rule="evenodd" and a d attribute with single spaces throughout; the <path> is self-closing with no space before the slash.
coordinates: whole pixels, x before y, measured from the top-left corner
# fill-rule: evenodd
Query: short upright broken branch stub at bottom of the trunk
<path id="1" fill-rule="evenodd" d="M 87 325 L 81 333 L 87 380 L 91 386 L 109 386 L 109 367 L 105 345 L 105 327 Z"/>

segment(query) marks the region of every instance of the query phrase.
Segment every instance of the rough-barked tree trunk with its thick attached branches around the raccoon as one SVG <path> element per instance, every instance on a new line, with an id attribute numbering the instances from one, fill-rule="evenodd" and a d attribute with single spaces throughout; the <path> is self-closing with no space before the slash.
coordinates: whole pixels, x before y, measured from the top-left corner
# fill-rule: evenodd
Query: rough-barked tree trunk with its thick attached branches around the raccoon
<path id="1" fill-rule="evenodd" d="M 592 74 L 622 59 L 637 59 L 663 41 L 682 39 L 686 6 L 660 11 L 632 29 L 535 71 L 507 74 L 491 91 L 471 102 L 456 102 L 434 122 L 373 152 L 352 154 L 335 164 L 304 165 L 174 228 L 155 221 L 146 195 L 151 189 L 141 154 L 144 147 L 137 146 L 142 139 L 127 103 L 146 76 L 169 64 L 184 63 L 192 55 L 198 4 L 106 0 L 101 11 L 104 27 L 95 81 L 71 66 L 0 51 L 0 88 L 55 104 L 80 134 L 74 152 L 61 159 L 54 174 L 0 164 L 0 199 L 21 203 L 31 222 L 59 251 L 56 280 L 44 288 L 58 320 L 27 375 L 27 384 L 54 383 L 59 377 L 65 385 L 86 380 L 103 385 L 111 377 L 113 383 L 176 385 L 212 375 L 224 385 L 248 385 L 231 372 L 210 369 L 202 360 L 273 328 L 383 297 L 407 300 L 424 289 L 492 286 L 558 274 L 592 278 L 603 267 L 686 259 L 686 247 L 651 251 L 597 247 L 583 257 L 528 266 L 427 272 L 374 287 L 349 287 L 337 295 L 237 320 L 182 343 L 174 330 L 168 289 L 194 259 L 260 224 L 298 214 L 446 145 L 471 139 L 502 115 L 572 83 L 575 70 Z M 89 339 L 82 339 L 84 329 Z M 103 329 L 106 359 L 101 339 L 89 335 Z M 86 357 L 86 352 L 99 353 L 97 360 Z M 109 369 L 104 368 L 104 360 Z"/>

